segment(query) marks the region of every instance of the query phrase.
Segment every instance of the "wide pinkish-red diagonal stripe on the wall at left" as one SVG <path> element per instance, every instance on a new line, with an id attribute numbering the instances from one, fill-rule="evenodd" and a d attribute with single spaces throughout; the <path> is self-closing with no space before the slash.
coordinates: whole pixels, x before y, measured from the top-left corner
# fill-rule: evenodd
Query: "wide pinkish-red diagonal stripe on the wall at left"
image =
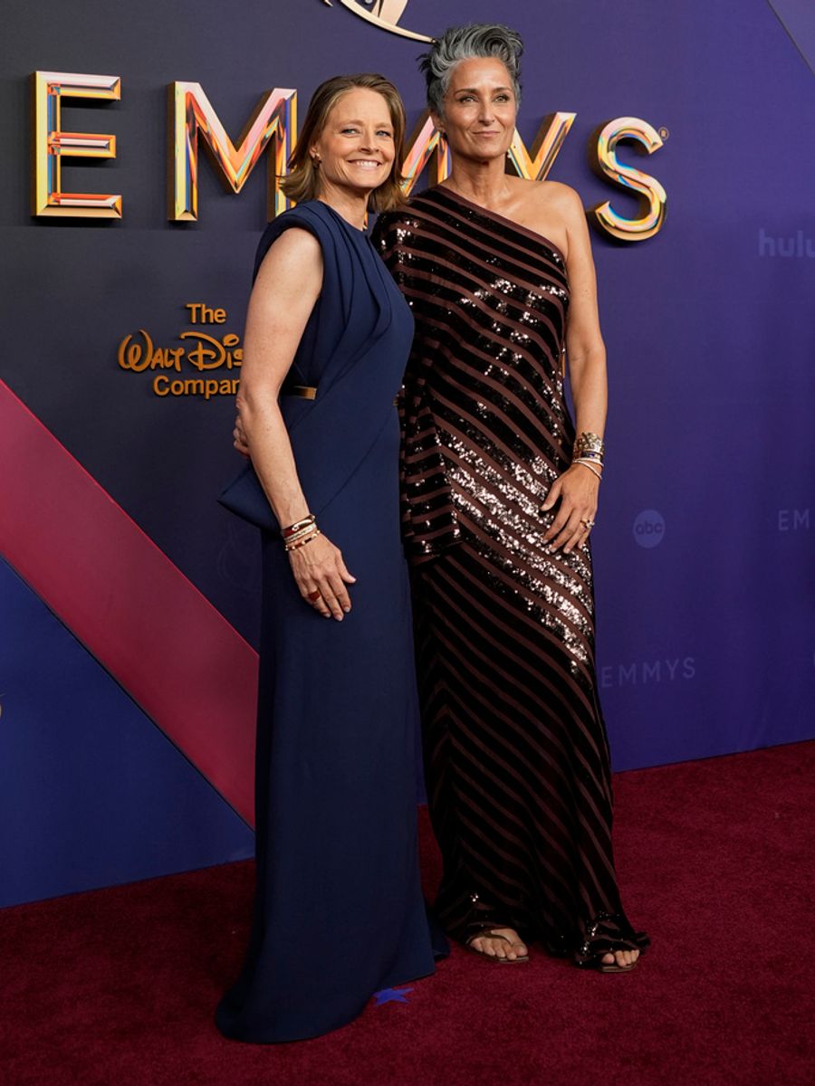
<path id="1" fill-rule="evenodd" d="M 256 653 L 2 381 L 0 553 L 252 824 Z"/>

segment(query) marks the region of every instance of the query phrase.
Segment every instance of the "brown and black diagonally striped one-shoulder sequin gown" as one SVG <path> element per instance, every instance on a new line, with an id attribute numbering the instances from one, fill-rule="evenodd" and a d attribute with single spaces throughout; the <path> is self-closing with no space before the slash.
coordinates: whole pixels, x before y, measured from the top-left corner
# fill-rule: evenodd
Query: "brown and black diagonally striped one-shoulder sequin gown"
<path id="1" fill-rule="evenodd" d="M 542 542 L 554 513 L 540 505 L 575 438 L 564 258 L 442 188 L 381 215 L 374 241 L 416 329 L 402 516 L 437 910 L 463 940 L 510 926 L 597 965 L 647 939 L 614 872 L 591 552 Z"/>

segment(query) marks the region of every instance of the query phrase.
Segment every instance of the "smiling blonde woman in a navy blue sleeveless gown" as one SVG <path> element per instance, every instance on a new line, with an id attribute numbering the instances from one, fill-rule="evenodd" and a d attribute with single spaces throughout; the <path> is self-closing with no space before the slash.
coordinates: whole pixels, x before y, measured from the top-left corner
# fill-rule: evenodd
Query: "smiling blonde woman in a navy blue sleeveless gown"
<path id="1" fill-rule="evenodd" d="M 216 1021 L 281 1041 L 434 971 L 416 843 L 416 693 L 394 397 L 410 308 L 364 231 L 398 202 L 404 114 L 380 76 L 312 99 L 258 250 L 222 496 L 263 528 L 258 889 Z M 283 539 L 281 539 L 283 534 Z"/>

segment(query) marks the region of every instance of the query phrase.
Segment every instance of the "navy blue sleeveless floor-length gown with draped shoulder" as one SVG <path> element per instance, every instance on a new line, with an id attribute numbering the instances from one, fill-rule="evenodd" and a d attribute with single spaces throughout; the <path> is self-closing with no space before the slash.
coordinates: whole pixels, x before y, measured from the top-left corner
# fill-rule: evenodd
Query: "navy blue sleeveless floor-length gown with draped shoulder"
<path id="1" fill-rule="evenodd" d="M 317 238 L 324 279 L 289 375 L 315 386 L 316 399 L 280 404 L 310 508 L 358 581 L 342 622 L 319 616 L 300 597 L 251 468 L 229 489 L 234 496 L 254 479 L 255 515 L 242 512 L 266 529 L 258 887 L 246 963 L 216 1012 L 224 1034 L 248 1041 L 326 1033 L 373 993 L 435 968 L 419 887 L 418 710 L 393 406 L 413 321 L 369 238 L 317 201 L 269 225 L 255 274 L 289 227 Z M 222 501 L 241 504 L 229 493 Z"/>

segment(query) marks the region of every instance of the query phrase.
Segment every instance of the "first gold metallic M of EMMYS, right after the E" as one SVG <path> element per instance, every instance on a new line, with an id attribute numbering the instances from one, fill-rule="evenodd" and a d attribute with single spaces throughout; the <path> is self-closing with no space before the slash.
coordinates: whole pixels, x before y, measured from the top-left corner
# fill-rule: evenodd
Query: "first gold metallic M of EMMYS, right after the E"
<path id="1" fill-rule="evenodd" d="M 268 217 L 285 211 L 288 201 L 279 190 L 278 177 L 285 172 L 297 139 L 297 91 L 280 88 L 266 91 L 236 147 L 200 83 L 172 83 L 167 90 L 170 219 L 179 223 L 198 218 L 199 136 L 227 190 L 236 193 L 274 140 L 274 161 L 268 166 Z"/>

